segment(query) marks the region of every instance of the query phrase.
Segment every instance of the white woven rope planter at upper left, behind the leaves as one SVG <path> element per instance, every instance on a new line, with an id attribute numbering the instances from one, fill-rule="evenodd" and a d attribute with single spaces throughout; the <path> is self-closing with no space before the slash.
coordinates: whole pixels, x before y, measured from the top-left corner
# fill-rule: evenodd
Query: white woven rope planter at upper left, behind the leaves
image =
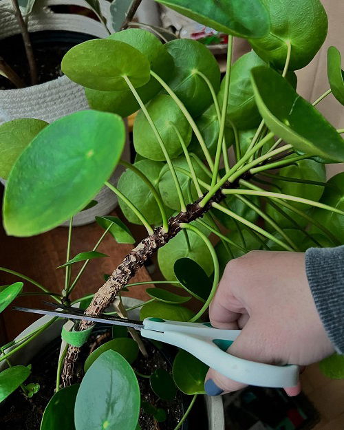
<path id="1" fill-rule="evenodd" d="M 104 26 L 92 18 L 80 14 L 56 13 L 50 6 L 82 6 L 89 8 L 83 0 L 38 0 L 28 18 L 28 28 L 32 34 L 32 45 L 48 46 L 63 43 L 67 49 L 89 39 L 108 36 Z M 100 0 L 100 7 L 108 23 L 111 23 L 109 2 Z M 12 8 L 11 1 L 1 0 L 1 8 Z M 108 24 L 109 25 L 109 24 Z M 17 21 L 12 14 L 0 11 L 0 40 L 20 34 Z M 111 31 L 112 28 L 109 28 Z M 12 48 L 12 45 L 11 45 Z M 37 118 L 47 122 L 73 112 L 89 109 L 83 87 L 72 82 L 67 76 L 60 76 L 39 85 L 21 89 L 0 89 L 0 125 L 16 118 Z M 122 158 L 129 161 L 129 144 L 125 146 Z M 109 182 L 116 184 L 123 169 L 116 169 Z M 5 183 L 1 180 L 3 184 Z M 78 213 L 74 226 L 94 222 L 96 215 L 107 215 L 117 206 L 117 197 L 107 187 L 103 187 L 94 200 L 98 204 Z M 68 222 L 63 224 L 68 225 Z"/>

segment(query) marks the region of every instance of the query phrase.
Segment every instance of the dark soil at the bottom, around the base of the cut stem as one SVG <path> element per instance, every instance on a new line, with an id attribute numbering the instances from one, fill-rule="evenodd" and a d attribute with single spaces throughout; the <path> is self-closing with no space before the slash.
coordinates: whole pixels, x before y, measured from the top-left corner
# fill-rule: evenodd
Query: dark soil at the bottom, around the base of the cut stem
<path id="1" fill-rule="evenodd" d="M 102 343 L 110 340 L 110 332 L 102 330 L 101 332 L 92 334 L 89 342 L 83 349 L 84 360 L 89 352 L 94 350 L 95 345 L 98 347 Z M 145 359 L 142 354 L 139 354 L 138 359 L 133 363 L 133 368 L 144 375 L 149 375 L 157 368 L 165 369 L 171 372 L 171 358 L 169 348 L 166 354 L 163 354 L 150 342 L 145 342 L 149 359 Z M 0 428 L 1 430 L 39 430 L 41 418 L 44 409 L 50 398 L 54 395 L 56 384 L 56 366 L 58 362 L 58 352 L 60 350 L 61 340 L 56 338 L 48 347 L 40 352 L 36 358 L 32 360 L 32 373 L 25 381 L 28 383 L 39 383 L 41 386 L 38 393 L 32 398 L 26 398 L 21 389 L 14 391 L 11 396 L 0 404 Z M 170 356 L 170 357 L 169 357 Z M 166 411 L 166 421 L 157 423 L 151 416 L 144 411 L 140 411 L 140 426 L 142 430 L 172 430 L 178 424 L 184 413 L 185 404 L 190 401 L 190 398 L 183 399 L 182 394 L 178 391 L 175 400 L 166 402 L 160 400 L 153 394 L 149 386 L 148 378 L 138 376 L 140 392 L 142 400 L 152 403 L 155 407 L 162 408 Z M 198 429 L 200 427 L 197 426 Z"/>

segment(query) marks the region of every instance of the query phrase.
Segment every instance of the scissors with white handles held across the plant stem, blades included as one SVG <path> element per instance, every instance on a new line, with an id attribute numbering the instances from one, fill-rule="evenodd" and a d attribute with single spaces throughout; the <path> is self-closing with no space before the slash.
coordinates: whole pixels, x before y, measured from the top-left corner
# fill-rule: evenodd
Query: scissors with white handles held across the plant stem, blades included
<path id="1" fill-rule="evenodd" d="M 54 303 L 44 303 L 56 307 Z M 105 314 L 92 316 L 85 315 L 83 310 L 78 308 L 58 306 L 63 309 L 45 310 L 19 307 L 13 309 L 59 316 L 65 319 L 84 319 L 94 323 L 133 327 L 141 332 L 141 336 L 182 348 L 227 378 L 247 385 L 288 388 L 297 385 L 299 380 L 299 366 L 297 365 L 268 365 L 228 354 L 226 350 L 239 336 L 240 330 L 222 330 L 212 327 L 211 323 L 184 323 L 161 318 L 133 321 Z"/>

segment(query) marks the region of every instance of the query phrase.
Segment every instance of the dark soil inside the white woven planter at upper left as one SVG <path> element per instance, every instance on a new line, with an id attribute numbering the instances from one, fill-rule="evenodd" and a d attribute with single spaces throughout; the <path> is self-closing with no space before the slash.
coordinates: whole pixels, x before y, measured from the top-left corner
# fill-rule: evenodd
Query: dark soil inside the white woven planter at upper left
<path id="1" fill-rule="evenodd" d="M 42 31 L 30 35 L 36 58 L 38 83 L 45 83 L 62 76 L 61 60 L 71 47 L 94 36 L 77 32 Z M 0 56 L 30 86 L 30 72 L 20 34 L 0 40 Z M 14 89 L 7 78 L 0 75 L 0 89 Z"/>

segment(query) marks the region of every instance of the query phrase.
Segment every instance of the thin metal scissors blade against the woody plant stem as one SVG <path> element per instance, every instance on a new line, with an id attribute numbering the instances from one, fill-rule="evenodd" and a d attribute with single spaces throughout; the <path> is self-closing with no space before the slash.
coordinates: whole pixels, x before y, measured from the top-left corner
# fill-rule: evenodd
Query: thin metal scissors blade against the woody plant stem
<path id="1" fill-rule="evenodd" d="M 30 312 L 33 314 L 43 314 L 43 315 L 52 315 L 52 316 L 60 316 L 61 318 L 66 319 L 85 319 L 87 321 L 92 321 L 94 323 L 105 323 L 111 325 L 123 325 L 125 327 L 132 327 L 135 330 L 140 331 L 143 328 L 143 324 L 141 321 L 134 321 L 130 319 L 122 319 L 119 317 L 109 316 L 109 315 L 85 315 L 75 312 L 71 308 L 67 310 L 48 310 L 48 309 L 31 309 L 31 308 L 21 308 L 19 306 L 14 306 L 14 310 L 19 310 L 21 312 Z"/>

